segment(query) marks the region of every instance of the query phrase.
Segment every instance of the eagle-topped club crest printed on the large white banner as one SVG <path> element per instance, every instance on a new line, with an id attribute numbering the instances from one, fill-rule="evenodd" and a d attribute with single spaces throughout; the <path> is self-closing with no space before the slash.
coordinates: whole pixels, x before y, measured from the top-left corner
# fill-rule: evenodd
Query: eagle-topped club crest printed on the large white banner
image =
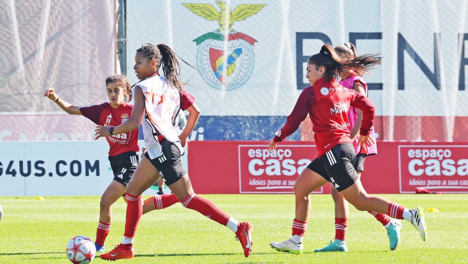
<path id="1" fill-rule="evenodd" d="M 257 14 L 266 4 L 243 4 L 232 11 L 227 3 L 216 1 L 220 11 L 207 4 L 182 4 L 206 20 L 218 21 L 219 28 L 203 34 L 194 41 L 198 47 L 197 66 L 201 77 L 217 90 L 234 90 L 252 75 L 254 38 L 232 29 L 236 21 Z"/>

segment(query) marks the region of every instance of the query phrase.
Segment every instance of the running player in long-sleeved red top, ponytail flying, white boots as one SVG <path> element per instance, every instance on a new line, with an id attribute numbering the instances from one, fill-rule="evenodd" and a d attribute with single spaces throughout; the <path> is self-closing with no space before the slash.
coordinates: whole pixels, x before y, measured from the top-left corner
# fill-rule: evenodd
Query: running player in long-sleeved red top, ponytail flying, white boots
<path id="1" fill-rule="evenodd" d="M 349 71 L 367 72 L 376 62 L 377 58 L 373 55 L 361 55 L 352 60 L 341 59 L 333 47 L 327 44 L 322 46 L 318 54 L 309 58 L 306 78 L 312 86 L 302 91 L 285 125 L 275 134 L 268 149 L 276 149 L 277 143 L 293 134 L 309 115 L 318 157 L 302 171 L 294 185 L 296 217 L 293 219 L 292 236 L 283 242 L 271 242 L 271 247 L 276 250 L 302 253 L 302 241 L 311 210 L 310 193 L 327 182 L 334 185 L 356 209 L 405 219 L 413 224 L 421 238 L 426 240 L 427 229 L 422 208 L 409 210 L 386 198 L 368 195 L 353 166 L 356 153 L 350 138 L 347 112 L 350 106 L 362 110 L 358 145 L 367 150 L 375 143 L 369 136 L 375 108 L 365 96 L 338 83 L 336 74 L 341 75 Z"/>

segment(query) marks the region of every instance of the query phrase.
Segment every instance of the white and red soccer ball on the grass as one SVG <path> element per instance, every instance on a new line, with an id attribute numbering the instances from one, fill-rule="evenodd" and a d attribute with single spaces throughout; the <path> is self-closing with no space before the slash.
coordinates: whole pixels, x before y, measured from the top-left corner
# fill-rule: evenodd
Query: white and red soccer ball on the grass
<path id="1" fill-rule="evenodd" d="M 86 236 L 76 236 L 67 244 L 67 256 L 75 264 L 87 264 L 96 256 L 96 246 Z"/>

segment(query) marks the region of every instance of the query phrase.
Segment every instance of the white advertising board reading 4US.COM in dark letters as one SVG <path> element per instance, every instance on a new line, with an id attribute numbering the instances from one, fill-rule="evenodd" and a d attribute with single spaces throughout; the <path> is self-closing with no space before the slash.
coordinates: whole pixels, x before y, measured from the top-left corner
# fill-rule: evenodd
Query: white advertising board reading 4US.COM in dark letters
<path id="1" fill-rule="evenodd" d="M 102 195 L 114 179 L 106 141 L 0 142 L 0 149 L 0 196 Z"/>

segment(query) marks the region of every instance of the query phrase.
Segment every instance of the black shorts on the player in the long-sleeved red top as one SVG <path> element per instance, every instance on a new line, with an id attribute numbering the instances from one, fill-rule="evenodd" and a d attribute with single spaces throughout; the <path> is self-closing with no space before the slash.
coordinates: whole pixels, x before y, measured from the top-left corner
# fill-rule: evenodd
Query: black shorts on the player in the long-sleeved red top
<path id="1" fill-rule="evenodd" d="M 329 181 L 339 192 L 350 187 L 357 181 L 357 173 L 353 166 L 356 152 L 349 143 L 336 145 L 321 157 L 314 159 L 307 166 Z"/>

